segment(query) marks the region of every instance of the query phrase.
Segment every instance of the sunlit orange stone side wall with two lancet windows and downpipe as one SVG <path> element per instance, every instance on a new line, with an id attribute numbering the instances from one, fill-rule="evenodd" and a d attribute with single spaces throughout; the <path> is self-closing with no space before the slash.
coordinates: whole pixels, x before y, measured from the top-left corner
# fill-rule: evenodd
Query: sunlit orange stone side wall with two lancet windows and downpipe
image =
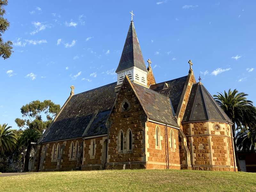
<path id="1" fill-rule="evenodd" d="M 159 145 L 156 145 L 156 129 L 159 134 Z M 171 130 L 173 137 L 171 138 Z M 179 130 L 167 126 L 169 169 L 180 169 Z M 171 144 L 172 142 L 172 144 Z M 167 169 L 167 139 L 165 125 L 153 122 L 146 123 L 146 159 L 147 169 Z"/>

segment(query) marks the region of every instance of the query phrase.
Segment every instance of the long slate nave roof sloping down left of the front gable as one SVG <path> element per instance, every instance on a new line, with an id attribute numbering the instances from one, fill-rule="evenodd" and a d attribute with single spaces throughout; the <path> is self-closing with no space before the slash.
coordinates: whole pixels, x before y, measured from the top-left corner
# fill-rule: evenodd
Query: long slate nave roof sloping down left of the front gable
<path id="1" fill-rule="evenodd" d="M 116 99 L 115 86 L 116 82 L 73 95 L 40 142 L 107 134 L 105 124 Z"/>

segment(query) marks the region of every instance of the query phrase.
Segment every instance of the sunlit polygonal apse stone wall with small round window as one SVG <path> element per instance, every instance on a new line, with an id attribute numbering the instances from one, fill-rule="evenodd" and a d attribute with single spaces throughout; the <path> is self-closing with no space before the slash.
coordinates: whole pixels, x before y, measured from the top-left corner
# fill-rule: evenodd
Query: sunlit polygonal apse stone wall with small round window
<path id="1" fill-rule="evenodd" d="M 219 124 L 216 131 L 214 125 Z M 231 125 L 223 122 L 183 124 L 188 139 L 192 169 L 235 171 Z"/>

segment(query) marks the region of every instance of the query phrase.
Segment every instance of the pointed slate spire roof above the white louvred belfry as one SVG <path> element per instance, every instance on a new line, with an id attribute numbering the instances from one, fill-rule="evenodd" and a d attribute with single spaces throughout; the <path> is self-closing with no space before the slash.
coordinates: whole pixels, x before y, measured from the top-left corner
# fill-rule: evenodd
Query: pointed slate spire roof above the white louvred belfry
<path id="1" fill-rule="evenodd" d="M 137 67 L 145 72 L 148 72 L 140 50 L 140 44 L 133 25 L 133 21 L 131 21 L 127 33 L 127 37 L 124 43 L 124 49 L 118 67 L 116 69 L 116 73 L 131 67 Z"/>

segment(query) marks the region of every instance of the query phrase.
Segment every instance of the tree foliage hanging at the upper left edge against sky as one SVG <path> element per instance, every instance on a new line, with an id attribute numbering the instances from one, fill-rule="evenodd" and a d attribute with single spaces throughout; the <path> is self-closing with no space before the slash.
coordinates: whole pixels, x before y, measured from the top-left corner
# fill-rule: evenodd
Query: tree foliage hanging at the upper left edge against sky
<path id="1" fill-rule="evenodd" d="M 7 0 L 0 0 L 0 57 L 7 59 L 12 54 L 12 42 L 4 42 L 2 35 L 10 27 L 10 23 L 7 19 L 4 19 L 5 9 L 4 6 L 8 4 Z"/>

